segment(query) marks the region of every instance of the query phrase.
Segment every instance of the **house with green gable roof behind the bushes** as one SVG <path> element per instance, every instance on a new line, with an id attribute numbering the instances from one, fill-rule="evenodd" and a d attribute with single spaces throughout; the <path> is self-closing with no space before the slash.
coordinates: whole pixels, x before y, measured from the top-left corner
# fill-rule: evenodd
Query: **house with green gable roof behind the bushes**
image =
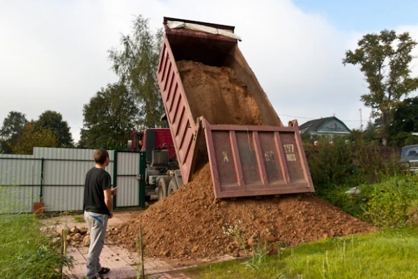
<path id="1" fill-rule="evenodd" d="M 325 136 L 332 139 L 335 135 L 343 136 L 350 134 L 350 129 L 346 124 L 335 116 L 307 121 L 299 128 L 301 135 L 310 135 L 311 139 L 314 136 Z"/>

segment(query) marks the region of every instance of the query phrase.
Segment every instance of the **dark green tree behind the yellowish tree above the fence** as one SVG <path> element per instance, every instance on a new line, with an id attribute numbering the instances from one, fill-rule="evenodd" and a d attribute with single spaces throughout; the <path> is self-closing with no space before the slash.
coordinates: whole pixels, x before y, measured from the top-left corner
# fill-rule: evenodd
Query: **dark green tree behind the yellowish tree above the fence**
<path id="1" fill-rule="evenodd" d="M 40 114 L 36 121 L 36 128 L 46 128 L 52 130 L 59 147 L 73 146 L 70 127 L 67 121 L 63 121 L 63 116 L 59 112 L 47 110 Z"/>

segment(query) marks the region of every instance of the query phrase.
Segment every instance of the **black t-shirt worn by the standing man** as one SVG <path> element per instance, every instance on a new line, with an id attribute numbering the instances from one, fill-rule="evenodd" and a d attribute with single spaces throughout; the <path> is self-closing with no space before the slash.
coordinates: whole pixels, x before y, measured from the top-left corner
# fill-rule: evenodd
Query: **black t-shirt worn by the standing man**
<path id="1" fill-rule="evenodd" d="M 104 169 L 93 167 L 86 174 L 84 186 L 84 211 L 107 214 L 109 210 L 104 203 L 104 190 L 110 188 L 110 174 Z"/>

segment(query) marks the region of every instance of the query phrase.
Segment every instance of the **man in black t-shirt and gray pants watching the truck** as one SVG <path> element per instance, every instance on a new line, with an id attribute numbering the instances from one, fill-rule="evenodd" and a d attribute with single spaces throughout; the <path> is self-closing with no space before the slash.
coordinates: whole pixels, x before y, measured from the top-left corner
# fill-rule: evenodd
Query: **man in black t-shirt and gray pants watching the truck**
<path id="1" fill-rule="evenodd" d="M 109 153 L 98 149 L 94 153 L 95 166 L 86 174 L 84 186 L 84 219 L 90 231 L 88 248 L 87 278 L 102 278 L 110 269 L 100 265 L 100 253 L 106 236 L 107 220 L 113 216 L 112 195 L 117 187 L 111 189 L 111 178 L 106 167 L 109 165 Z"/>

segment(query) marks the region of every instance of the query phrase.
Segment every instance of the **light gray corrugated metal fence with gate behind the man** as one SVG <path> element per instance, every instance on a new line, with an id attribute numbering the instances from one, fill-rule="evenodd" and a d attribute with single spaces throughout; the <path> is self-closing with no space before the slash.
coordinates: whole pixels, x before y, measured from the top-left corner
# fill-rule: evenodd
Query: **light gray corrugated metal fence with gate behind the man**
<path id="1" fill-rule="evenodd" d="M 83 209 L 84 179 L 94 166 L 93 149 L 33 148 L 33 155 L 0 155 L 0 213 L 33 212 L 34 202 L 44 211 Z M 109 150 L 106 168 L 118 186 L 114 206 L 140 206 L 141 153 Z"/>

